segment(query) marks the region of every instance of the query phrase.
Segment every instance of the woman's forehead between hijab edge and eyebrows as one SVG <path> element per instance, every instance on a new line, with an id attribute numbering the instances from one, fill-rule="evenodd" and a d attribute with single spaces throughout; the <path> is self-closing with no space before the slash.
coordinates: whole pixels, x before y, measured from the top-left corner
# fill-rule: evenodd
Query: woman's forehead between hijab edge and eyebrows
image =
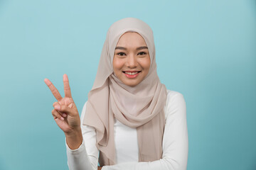
<path id="1" fill-rule="evenodd" d="M 135 32 L 127 32 L 124 33 L 118 40 L 117 46 L 122 47 L 139 47 L 139 46 L 146 46 L 146 42 L 142 35 Z"/>

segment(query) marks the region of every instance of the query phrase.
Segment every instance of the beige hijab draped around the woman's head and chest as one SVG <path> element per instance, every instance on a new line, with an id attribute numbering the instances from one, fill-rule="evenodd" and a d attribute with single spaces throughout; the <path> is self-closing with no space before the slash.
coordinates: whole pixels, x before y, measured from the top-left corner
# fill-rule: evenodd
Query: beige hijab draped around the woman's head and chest
<path id="1" fill-rule="evenodd" d="M 127 86 L 113 72 L 114 48 L 122 34 L 137 32 L 149 49 L 149 74 L 137 86 Z M 83 125 L 96 130 L 100 166 L 116 164 L 114 118 L 137 128 L 139 162 L 161 159 L 164 134 L 166 87 L 156 73 L 154 38 L 151 28 L 137 18 L 124 18 L 112 24 L 103 45 L 95 83 L 88 94 Z"/>

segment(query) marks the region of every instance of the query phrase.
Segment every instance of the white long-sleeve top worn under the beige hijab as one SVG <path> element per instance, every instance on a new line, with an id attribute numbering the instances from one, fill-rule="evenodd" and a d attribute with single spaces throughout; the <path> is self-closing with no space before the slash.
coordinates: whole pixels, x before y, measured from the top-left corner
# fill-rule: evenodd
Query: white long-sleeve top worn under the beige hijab
<path id="1" fill-rule="evenodd" d="M 70 170 L 97 170 L 99 149 L 96 147 L 95 128 L 82 125 L 85 115 L 82 108 L 81 128 L 82 145 L 78 149 L 70 149 L 66 143 L 68 167 Z M 184 170 L 188 160 L 188 129 L 186 123 L 186 103 L 183 95 L 177 91 L 167 90 L 164 107 L 165 126 L 163 137 L 162 159 L 154 162 L 139 162 L 139 146 L 136 128 L 115 120 L 114 145 L 117 164 L 103 166 L 102 170 Z"/>

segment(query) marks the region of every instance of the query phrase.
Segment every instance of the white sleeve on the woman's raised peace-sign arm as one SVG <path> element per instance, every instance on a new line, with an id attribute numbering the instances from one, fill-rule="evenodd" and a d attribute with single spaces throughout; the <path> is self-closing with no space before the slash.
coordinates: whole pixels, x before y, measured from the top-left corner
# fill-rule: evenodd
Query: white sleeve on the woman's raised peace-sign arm
<path id="1" fill-rule="evenodd" d="M 70 170 L 97 170 L 99 150 L 96 147 L 96 132 L 95 128 L 87 125 L 82 125 L 82 120 L 85 116 L 85 108 L 82 108 L 81 113 L 81 128 L 82 128 L 82 144 L 78 149 L 70 149 L 66 143 L 68 168 Z"/>

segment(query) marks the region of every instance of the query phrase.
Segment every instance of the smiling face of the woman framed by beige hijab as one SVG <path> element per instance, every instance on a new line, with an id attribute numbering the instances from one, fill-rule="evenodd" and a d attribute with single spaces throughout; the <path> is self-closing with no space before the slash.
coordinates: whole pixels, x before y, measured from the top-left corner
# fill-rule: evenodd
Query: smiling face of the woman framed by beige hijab
<path id="1" fill-rule="evenodd" d="M 127 86 L 136 86 L 149 73 L 149 50 L 139 33 L 124 33 L 114 50 L 114 74 Z"/>

